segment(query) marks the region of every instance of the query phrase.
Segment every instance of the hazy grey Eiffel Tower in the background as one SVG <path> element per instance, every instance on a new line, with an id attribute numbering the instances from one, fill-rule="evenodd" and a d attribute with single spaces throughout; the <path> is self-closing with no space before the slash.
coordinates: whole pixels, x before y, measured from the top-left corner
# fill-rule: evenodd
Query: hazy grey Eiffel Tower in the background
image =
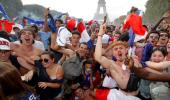
<path id="1" fill-rule="evenodd" d="M 101 8 L 103 8 L 103 12 L 100 13 Z M 98 6 L 97 6 L 97 11 L 96 11 L 93 19 L 96 21 L 99 21 L 99 23 L 101 23 L 104 19 L 104 16 L 107 16 L 107 21 L 109 21 L 108 14 L 106 11 L 106 2 L 105 2 L 105 0 L 99 0 Z"/>

